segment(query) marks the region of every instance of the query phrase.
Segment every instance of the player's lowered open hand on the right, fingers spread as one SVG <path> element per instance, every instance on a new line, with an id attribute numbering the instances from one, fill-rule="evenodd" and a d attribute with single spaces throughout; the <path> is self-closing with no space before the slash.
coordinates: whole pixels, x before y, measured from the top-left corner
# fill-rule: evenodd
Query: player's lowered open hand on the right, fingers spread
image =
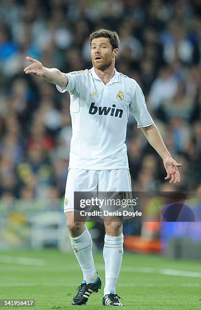
<path id="1" fill-rule="evenodd" d="M 177 167 L 181 167 L 181 164 L 178 164 L 174 159 L 169 157 L 164 160 L 164 167 L 167 171 L 167 177 L 165 177 L 165 180 L 168 180 L 171 177 L 170 183 L 174 182 L 175 184 L 180 182 L 180 173 Z"/>

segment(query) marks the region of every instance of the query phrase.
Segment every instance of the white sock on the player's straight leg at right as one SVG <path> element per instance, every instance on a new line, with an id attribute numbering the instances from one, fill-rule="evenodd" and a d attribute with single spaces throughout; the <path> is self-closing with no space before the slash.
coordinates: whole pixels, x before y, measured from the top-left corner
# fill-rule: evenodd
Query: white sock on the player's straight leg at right
<path id="1" fill-rule="evenodd" d="M 105 261 L 105 288 L 104 295 L 115 291 L 116 281 L 119 276 L 120 266 L 124 254 L 124 235 L 110 237 L 105 235 L 103 258 Z"/>

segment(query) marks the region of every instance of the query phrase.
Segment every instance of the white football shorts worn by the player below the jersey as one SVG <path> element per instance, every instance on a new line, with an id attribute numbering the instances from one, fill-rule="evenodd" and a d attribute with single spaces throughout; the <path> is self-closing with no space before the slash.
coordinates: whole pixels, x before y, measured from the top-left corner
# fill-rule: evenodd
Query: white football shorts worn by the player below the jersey
<path id="1" fill-rule="evenodd" d="M 131 192 L 131 176 L 128 169 L 68 171 L 64 213 L 74 211 L 74 191 L 126 191 Z"/>

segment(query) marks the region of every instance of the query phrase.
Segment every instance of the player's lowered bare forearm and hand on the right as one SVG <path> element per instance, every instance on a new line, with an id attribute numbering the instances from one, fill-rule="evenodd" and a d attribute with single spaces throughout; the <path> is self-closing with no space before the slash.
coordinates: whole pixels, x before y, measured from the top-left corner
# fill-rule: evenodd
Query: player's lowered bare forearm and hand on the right
<path id="1" fill-rule="evenodd" d="M 180 182 L 180 173 L 177 167 L 181 167 L 181 164 L 178 164 L 174 159 L 172 159 L 171 154 L 169 153 L 155 124 L 141 129 L 147 141 L 151 144 L 151 146 L 153 146 L 164 161 L 164 167 L 167 171 L 165 180 L 168 180 L 171 177 L 170 183 Z"/>

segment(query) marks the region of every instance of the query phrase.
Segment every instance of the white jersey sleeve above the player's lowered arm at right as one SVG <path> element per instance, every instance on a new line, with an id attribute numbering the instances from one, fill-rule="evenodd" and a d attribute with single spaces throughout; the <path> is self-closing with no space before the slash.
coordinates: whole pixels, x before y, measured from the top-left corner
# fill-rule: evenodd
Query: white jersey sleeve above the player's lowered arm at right
<path id="1" fill-rule="evenodd" d="M 138 128 L 147 127 L 153 124 L 151 115 L 149 114 L 145 98 L 140 86 L 136 83 L 135 93 L 131 102 L 130 112 L 134 115 Z"/>

